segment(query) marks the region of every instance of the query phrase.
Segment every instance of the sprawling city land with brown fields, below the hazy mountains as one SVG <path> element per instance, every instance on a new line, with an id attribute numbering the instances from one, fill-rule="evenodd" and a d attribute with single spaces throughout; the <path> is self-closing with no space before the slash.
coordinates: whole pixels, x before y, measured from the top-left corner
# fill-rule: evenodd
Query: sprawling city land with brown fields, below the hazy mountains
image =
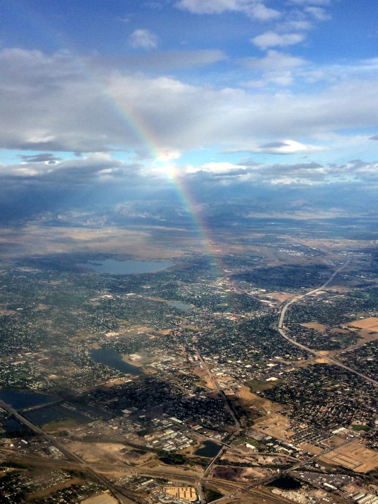
<path id="1" fill-rule="evenodd" d="M 2 495 L 345 504 L 355 485 L 374 504 L 374 226 L 256 220 L 206 244 L 182 224 L 0 230 Z M 77 267 L 107 259 L 174 266 Z M 279 488 L 303 468 L 323 479 Z"/>

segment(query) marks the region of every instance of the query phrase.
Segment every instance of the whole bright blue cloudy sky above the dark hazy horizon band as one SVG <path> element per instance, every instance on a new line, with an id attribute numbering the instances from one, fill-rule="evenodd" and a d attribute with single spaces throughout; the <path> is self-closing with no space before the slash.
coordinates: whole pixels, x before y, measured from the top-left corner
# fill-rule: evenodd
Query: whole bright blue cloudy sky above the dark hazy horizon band
<path id="1" fill-rule="evenodd" d="M 172 178 L 378 184 L 371 0 L 3 0 L 0 11 L 10 202 L 20 188 L 142 191 Z"/>

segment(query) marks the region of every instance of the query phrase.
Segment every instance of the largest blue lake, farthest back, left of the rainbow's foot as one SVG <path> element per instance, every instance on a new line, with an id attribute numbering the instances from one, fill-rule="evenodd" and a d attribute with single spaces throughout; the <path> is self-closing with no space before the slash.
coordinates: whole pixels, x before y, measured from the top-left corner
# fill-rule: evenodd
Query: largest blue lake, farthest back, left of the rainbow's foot
<path id="1" fill-rule="evenodd" d="M 153 261 L 116 261 L 115 259 L 105 259 L 103 261 L 91 259 L 86 263 L 79 263 L 75 266 L 86 268 L 96 273 L 107 273 L 109 275 L 130 275 L 135 273 L 155 273 L 166 270 L 174 263 L 158 263 Z"/>

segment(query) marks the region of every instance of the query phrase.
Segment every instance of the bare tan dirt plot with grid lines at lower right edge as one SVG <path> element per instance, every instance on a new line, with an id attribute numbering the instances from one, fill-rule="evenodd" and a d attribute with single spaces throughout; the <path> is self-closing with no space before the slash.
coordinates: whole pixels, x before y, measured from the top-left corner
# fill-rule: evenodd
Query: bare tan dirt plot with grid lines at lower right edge
<path id="1" fill-rule="evenodd" d="M 378 452 L 360 445 L 357 440 L 353 440 L 319 460 L 323 460 L 327 464 L 347 467 L 355 472 L 366 473 L 378 467 Z"/>

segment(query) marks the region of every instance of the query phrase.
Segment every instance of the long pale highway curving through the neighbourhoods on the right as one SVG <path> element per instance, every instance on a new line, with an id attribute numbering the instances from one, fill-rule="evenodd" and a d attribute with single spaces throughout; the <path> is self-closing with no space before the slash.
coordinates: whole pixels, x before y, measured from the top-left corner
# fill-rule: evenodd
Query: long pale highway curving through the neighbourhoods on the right
<path id="1" fill-rule="evenodd" d="M 356 371 L 355 369 L 352 369 L 351 367 L 347 366 L 346 364 L 343 364 L 342 362 L 336 360 L 336 359 L 333 359 L 331 357 L 327 357 L 325 356 L 323 353 L 317 351 L 317 350 L 313 350 L 312 348 L 309 348 L 305 345 L 302 345 L 301 343 L 299 343 L 298 341 L 295 341 L 293 338 L 290 338 L 290 336 L 288 336 L 285 331 L 284 331 L 284 320 L 285 320 L 285 314 L 286 314 L 286 311 L 288 310 L 288 308 L 293 304 L 295 303 L 296 301 L 299 301 L 299 299 L 302 299 L 303 297 L 306 297 L 306 296 L 311 296 L 312 294 L 316 294 L 317 292 L 319 292 L 320 290 L 324 289 L 325 287 L 327 287 L 327 285 L 332 282 L 332 280 L 336 277 L 336 275 L 342 270 L 344 269 L 347 265 L 349 264 L 349 261 L 346 262 L 345 264 L 343 264 L 338 270 L 336 270 L 332 276 L 327 280 L 327 282 L 325 282 L 323 285 L 321 285 L 320 287 L 317 287 L 316 289 L 312 289 L 310 290 L 309 292 L 306 292 L 305 294 L 300 294 L 298 296 L 295 296 L 293 297 L 292 299 L 290 299 L 290 301 L 288 301 L 287 303 L 284 304 L 284 306 L 282 307 L 282 310 L 281 310 L 281 314 L 280 314 L 280 319 L 278 321 L 278 327 L 277 327 L 277 331 L 280 333 L 280 335 L 285 338 L 285 340 L 289 341 L 291 344 L 293 345 L 296 345 L 297 347 L 301 348 L 302 350 L 305 350 L 306 352 L 314 355 L 315 357 L 319 357 L 319 358 L 322 358 L 322 359 L 325 359 L 327 360 L 327 362 L 329 362 L 330 364 L 333 364 L 335 366 L 339 366 L 339 367 L 342 367 L 343 369 L 347 370 L 347 371 L 350 371 L 351 373 L 354 373 L 354 374 L 357 374 L 357 376 L 360 376 L 363 380 L 366 380 L 367 382 L 370 382 L 371 384 L 373 384 L 375 387 L 378 387 L 378 381 L 376 380 L 373 380 L 372 378 L 370 378 L 370 376 L 366 376 L 366 374 L 363 374 L 363 373 L 360 373 L 359 371 Z"/>

